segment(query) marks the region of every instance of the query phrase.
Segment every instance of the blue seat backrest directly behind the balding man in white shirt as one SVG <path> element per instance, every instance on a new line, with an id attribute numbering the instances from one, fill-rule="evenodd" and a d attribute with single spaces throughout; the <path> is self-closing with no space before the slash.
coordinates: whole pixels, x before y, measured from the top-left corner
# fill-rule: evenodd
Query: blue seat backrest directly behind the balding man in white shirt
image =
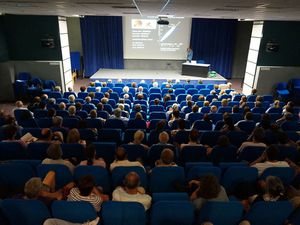
<path id="1" fill-rule="evenodd" d="M 107 201 L 102 204 L 103 225 L 145 225 L 146 214 L 141 203 Z"/>

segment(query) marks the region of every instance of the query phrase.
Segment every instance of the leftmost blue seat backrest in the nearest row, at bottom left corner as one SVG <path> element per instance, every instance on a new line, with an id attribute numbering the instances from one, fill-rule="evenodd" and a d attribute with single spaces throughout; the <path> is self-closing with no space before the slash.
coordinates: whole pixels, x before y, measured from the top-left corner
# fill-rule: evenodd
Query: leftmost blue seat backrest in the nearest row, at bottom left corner
<path id="1" fill-rule="evenodd" d="M 10 225 L 42 225 L 51 217 L 46 205 L 39 200 L 5 199 L 1 209 Z"/>

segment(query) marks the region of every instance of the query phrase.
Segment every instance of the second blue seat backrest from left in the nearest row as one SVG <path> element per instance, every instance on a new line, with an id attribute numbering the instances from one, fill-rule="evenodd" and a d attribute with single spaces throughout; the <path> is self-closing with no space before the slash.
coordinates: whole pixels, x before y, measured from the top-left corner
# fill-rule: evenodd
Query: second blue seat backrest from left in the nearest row
<path id="1" fill-rule="evenodd" d="M 84 223 L 97 217 L 93 205 L 85 201 L 54 201 L 51 211 L 54 218 L 72 223 Z"/>

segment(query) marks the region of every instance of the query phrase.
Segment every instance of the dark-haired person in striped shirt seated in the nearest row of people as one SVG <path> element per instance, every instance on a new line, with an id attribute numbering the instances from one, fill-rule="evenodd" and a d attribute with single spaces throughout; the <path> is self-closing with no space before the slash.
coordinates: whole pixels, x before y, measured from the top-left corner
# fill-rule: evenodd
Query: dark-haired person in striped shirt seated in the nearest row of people
<path id="1" fill-rule="evenodd" d="M 96 187 L 94 177 L 92 175 L 85 175 L 79 178 L 77 187 L 73 187 L 70 190 L 68 201 L 89 202 L 99 212 L 101 204 L 106 198 L 101 188 Z"/>

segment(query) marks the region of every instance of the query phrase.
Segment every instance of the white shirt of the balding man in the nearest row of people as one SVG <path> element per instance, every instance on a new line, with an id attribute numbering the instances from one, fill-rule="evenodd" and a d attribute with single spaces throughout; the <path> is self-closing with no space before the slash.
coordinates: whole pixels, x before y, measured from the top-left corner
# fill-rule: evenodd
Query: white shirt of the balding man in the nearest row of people
<path id="1" fill-rule="evenodd" d="M 128 194 L 122 187 L 117 187 L 112 194 L 113 201 L 120 202 L 139 202 L 143 204 L 145 210 L 148 210 L 151 206 L 151 197 L 147 194 Z"/>

